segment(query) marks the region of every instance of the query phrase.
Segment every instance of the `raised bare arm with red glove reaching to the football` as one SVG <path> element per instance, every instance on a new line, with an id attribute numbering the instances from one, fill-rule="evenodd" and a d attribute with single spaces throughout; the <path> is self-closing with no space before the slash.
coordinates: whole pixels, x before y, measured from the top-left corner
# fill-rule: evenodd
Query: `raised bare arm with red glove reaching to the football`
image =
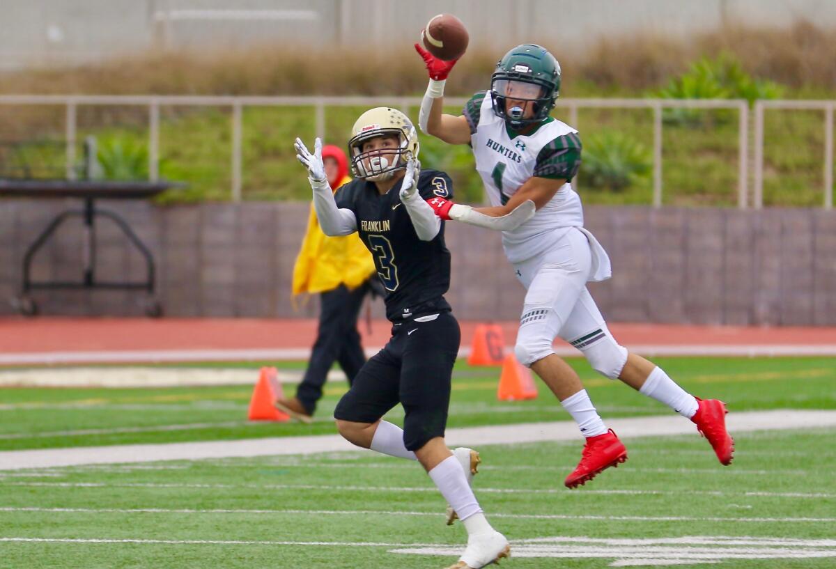
<path id="1" fill-rule="evenodd" d="M 415 51 L 424 59 L 427 73 L 430 75 L 430 84 L 427 85 L 424 98 L 421 99 L 421 110 L 418 112 L 418 126 L 421 127 L 421 132 L 451 145 L 466 145 L 471 137 L 467 119 L 463 115 L 441 113 L 444 107 L 444 84 L 457 60 L 444 61 L 436 58 L 422 48 L 420 43 L 415 43 Z"/>

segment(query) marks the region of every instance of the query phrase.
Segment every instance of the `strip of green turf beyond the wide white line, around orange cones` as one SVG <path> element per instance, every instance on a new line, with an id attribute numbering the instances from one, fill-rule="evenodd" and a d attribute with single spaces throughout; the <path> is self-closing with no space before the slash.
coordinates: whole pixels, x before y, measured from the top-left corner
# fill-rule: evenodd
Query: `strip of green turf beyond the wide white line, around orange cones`
<path id="1" fill-rule="evenodd" d="M 617 381 L 602 378 L 584 359 L 578 369 L 604 419 L 670 413 L 661 404 Z M 657 358 L 693 394 L 719 398 L 734 411 L 836 409 L 833 358 Z M 218 364 L 213 363 L 212 366 Z M 229 364 L 233 365 L 233 364 Z M 242 364 L 234 364 L 242 365 Z M 253 382 L 259 363 L 253 369 Z M 207 366 L 208 367 L 208 366 Z M 283 363 L 300 368 L 301 363 Z M 107 373 L 99 368 L 97 373 Z M 48 368 L 44 370 L 48 373 Z M 456 364 L 449 426 L 527 423 L 568 419 L 538 380 L 538 399 L 498 402 L 498 368 Z M 314 425 L 248 423 L 252 388 L 221 386 L 171 389 L 0 389 L 0 450 L 189 440 L 240 439 L 334 433 L 334 405 L 347 389 L 326 385 Z M 288 395 L 295 385 L 286 385 Z M 400 407 L 390 419 L 398 422 Z"/>

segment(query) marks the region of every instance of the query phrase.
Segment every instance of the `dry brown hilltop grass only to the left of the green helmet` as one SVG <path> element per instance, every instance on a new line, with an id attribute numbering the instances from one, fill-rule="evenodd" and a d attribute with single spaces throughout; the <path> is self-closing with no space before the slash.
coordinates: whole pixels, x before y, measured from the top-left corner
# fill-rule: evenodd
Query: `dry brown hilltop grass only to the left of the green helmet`
<path id="1" fill-rule="evenodd" d="M 496 63 L 469 53 L 451 78 L 456 91 L 484 89 Z M 426 74 L 411 50 L 291 55 L 282 45 L 220 53 L 141 53 L 74 69 L 8 74 L 6 93 L 71 94 L 414 94 Z"/>

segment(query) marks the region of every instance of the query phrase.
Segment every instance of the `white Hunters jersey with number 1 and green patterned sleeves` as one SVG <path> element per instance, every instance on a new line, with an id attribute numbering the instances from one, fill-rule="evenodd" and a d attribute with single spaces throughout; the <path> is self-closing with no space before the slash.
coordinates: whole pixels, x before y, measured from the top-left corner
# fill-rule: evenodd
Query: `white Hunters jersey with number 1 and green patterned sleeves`
<path id="1" fill-rule="evenodd" d="M 580 165 L 577 130 L 559 120 L 548 119 L 530 135 L 509 133 L 504 119 L 493 112 L 490 94 L 485 92 L 477 93 L 467 102 L 464 115 L 471 126 L 476 170 L 482 176 L 492 206 L 507 203 L 533 176 L 568 180 L 530 220 L 513 231 L 502 232 L 508 261 L 517 263 L 536 257 L 570 228 L 584 226 L 584 208 L 571 184 Z M 588 236 L 597 257 L 604 257 L 594 263 L 596 269 L 604 271 L 595 270 L 593 280 L 608 278 L 609 274 L 604 273 L 609 272 L 609 258 L 598 241 L 591 234 Z"/>

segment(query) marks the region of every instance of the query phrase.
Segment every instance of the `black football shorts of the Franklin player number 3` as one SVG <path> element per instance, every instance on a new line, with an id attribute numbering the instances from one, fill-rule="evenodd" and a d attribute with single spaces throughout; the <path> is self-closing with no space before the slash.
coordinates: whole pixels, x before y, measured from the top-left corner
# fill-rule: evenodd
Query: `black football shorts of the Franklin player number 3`
<path id="1" fill-rule="evenodd" d="M 450 312 L 396 323 L 389 343 L 365 363 L 339 400 L 334 418 L 375 423 L 400 403 L 408 450 L 443 437 L 460 340 L 459 323 Z"/>

